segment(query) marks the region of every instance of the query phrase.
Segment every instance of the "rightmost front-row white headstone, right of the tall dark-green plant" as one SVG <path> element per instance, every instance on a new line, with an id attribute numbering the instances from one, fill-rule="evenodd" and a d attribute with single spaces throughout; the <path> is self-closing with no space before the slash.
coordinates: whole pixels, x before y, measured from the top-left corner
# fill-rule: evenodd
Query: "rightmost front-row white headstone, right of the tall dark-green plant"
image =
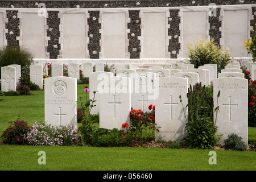
<path id="1" fill-rule="evenodd" d="M 220 97 L 217 102 L 217 94 L 220 90 Z M 248 138 L 248 80 L 238 77 L 222 77 L 213 80 L 214 104 L 218 103 L 219 112 L 217 115 L 216 134 L 222 134 L 220 143 L 229 134 L 235 133 L 242 137 L 247 144 Z M 216 106 L 215 106 L 216 107 Z M 216 113 L 214 113 L 214 121 Z"/>

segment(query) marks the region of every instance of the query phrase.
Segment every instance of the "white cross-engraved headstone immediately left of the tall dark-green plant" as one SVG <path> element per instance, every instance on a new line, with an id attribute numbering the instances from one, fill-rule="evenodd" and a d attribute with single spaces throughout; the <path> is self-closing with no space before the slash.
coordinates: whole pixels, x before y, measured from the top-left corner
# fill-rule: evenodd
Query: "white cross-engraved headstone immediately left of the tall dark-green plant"
<path id="1" fill-rule="evenodd" d="M 162 77 L 159 79 L 159 96 L 155 99 L 155 123 L 160 127 L 155 132 L 155 140 L 177 141 L 187 135 L 187 92 L 188 80 L 181 77 Z M 181 96 L 183 106 L 180 102 Z"/>

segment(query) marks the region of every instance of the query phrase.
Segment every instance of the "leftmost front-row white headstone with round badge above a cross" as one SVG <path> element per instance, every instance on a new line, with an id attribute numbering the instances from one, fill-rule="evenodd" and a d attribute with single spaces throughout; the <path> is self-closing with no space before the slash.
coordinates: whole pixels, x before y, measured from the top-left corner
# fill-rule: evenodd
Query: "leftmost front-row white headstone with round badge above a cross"
<path id="1" fill-rule="evenodd" d="M 56 76 L 44 79 L 45 121 L 52 126 L 77 127 L 77 79 Z"/>

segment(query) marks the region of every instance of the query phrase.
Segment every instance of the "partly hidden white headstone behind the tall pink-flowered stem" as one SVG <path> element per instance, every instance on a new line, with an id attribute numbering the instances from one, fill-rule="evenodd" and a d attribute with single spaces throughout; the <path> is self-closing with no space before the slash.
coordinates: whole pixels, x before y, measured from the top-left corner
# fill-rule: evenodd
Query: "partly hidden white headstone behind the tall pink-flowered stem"
<path id="1" fill-rule="evenodd" d="M 104 77 L 109 77 L 109 76 L 114 76 L 113 73 L 110 72 L 92 72 L 89 74 L 89 89 L 90 89 L 90 94 L 89 98 L 91 100 L 96 100 L 97 102 L 94 102 L 94 107 L 92 107 L 91 114 L 98 114 L 100 112 L 100 96 L 99 96 L 99 91 L 98 89 L 102 88 L 102 84 L 104 84 Z M 93 92 L 96 92 L 95 96 Z"/>

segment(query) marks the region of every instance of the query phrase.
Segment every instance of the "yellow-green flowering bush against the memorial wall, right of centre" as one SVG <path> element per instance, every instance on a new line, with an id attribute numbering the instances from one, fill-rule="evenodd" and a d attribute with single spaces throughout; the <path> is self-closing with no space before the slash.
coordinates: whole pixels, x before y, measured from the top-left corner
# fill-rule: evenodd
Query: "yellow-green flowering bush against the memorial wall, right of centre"
<path id="1" fill-rule="evenodd" d="M 192 43 L 188 44 L 188 50 L 188 61 L 194 64 L 195 68 L 211 63 L 217 64 L 218 72 L 220 72 L 230 62 L 229 49 L 222 51 L 222 47 L 217 46 L 213 38 L 205 42 L 202 39 L 197 39 L 195 47 Z"/>

